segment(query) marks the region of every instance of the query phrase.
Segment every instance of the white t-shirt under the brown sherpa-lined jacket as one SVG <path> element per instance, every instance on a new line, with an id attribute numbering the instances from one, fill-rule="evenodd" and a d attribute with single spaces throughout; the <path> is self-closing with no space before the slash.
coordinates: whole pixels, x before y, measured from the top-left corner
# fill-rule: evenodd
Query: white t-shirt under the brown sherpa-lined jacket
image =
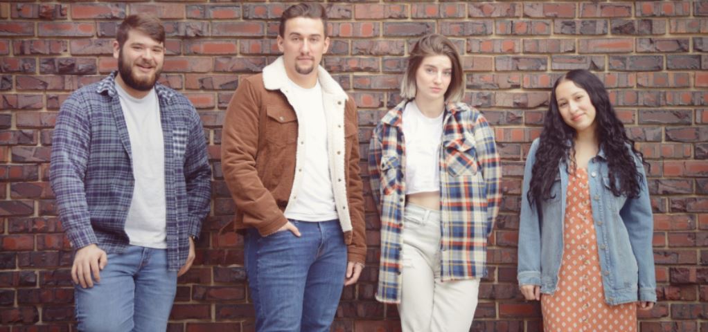
<path id="1" fill-rule="evenodd" d="M 288 80 L 290 81 L 290 80 Z M 327 153 L 327 121 L 324 114 L 322 87 L 317 81 L 314 88 L 305 89 L 290 81 L 290 102 L 298 110 L 297 125 L 304 133 L 302 149 L 302 186 L 290 198 L 285 218 L 302 221 L 337 219 L 337 211 L 329 174 Z"/>

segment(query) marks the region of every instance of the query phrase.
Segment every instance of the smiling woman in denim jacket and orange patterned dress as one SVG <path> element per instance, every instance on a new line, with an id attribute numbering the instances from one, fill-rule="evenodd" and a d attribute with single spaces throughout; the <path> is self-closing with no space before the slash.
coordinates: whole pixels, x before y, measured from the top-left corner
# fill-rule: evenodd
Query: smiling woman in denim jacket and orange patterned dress
<path id="1" fill-rule="evenodd" d="M 519 227 L 520 289 L 541 300 L 546 331 L 636 331 L 636 307 L 656 302 L 643 164 L 600 79 L 561 76 L 526 160 Z"/>

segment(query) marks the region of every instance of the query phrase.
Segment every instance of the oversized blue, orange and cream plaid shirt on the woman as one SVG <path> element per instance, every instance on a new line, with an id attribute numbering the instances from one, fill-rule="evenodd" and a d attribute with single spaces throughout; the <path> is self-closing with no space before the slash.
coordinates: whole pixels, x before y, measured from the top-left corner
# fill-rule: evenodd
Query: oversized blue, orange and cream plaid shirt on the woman
<path id="1" fill-rule="evenodd" d="M 406 147 L 401 102 L 374 129 L 369 148 L 372 193 L 381 216 L 376 299 L 401 300 L 401 231 L 406 201 Z M 486 244 L 501 203 L 501 162 L 494 134 L 476 109 L 446 105 L 440 149 L 440 278 L 486 275 Z"/>

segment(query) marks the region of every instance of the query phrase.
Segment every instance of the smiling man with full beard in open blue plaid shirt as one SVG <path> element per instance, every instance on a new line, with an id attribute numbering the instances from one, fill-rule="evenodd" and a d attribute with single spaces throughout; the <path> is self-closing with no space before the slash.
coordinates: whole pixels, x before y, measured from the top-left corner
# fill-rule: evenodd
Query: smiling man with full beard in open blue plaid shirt
<path id="1" fill-rule="evenodd" d="M 79 331 L 165 331 L 209 212 L 202 123 L 157 83 L 164 54 L 161 22 L 128 16 L 113 42 L 118 71 L 59 110 L 50 181 L 75 250 Z"/>

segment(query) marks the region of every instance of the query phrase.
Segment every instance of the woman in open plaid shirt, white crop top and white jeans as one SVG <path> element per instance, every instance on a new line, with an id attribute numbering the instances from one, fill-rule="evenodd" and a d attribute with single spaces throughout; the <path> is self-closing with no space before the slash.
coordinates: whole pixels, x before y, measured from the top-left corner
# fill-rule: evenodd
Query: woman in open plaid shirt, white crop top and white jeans
<path id="1" fill-rule="evenodd" d="M 374 130 L 372 192 L 381 215 L 376 298 L 399 304 L 403 331 L 467 332 L 501 201 L 494 135 L 459 102 L 455 45 L 426 35 L 411 51 L 404 101 Z"/>

